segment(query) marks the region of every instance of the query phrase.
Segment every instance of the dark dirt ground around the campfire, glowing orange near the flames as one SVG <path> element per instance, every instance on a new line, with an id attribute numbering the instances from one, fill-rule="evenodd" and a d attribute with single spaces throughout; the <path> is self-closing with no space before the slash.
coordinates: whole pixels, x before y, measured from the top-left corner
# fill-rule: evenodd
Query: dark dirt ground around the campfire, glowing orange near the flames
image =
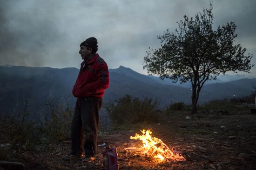
<path id="1" fill-rule="evenodd" d="M 189 116 L 190 119 L 186 119 Z M 186 158 L 185 162 L 159 163 L 125 148 L 141 145 L 129 139 L 150 128 L 153 136 Z M 256 115 L 249 109 L 242 111 L 206 110 L 190 115 L 187 111 L 162 114 L 158 123 L 143 123 L 126 130 L 100 133 L 98 144 L 116 147 L 120 170 L 255 170 L 256 169 Z M 98 147 L 93 163 L 64 161 L 70 151 L 70 141 L 55 147 L 54 152 L 35 154 L 21 152 L 20 162 L 26 170 L 103 170 L 102 151 Z"/>

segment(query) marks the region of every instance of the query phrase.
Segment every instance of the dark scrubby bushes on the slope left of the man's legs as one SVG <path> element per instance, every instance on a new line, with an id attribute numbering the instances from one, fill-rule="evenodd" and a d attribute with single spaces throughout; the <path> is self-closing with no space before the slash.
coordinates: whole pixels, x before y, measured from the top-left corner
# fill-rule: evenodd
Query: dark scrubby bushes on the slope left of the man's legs
<path id="1" fill-rule="evenodd" d="M 66 98 L 67 102 L 68 97 Z M 47 102 L 51 108 L 51 118 L 45 120 L 28 120 L 28 103 L 25 104 L 23 113 L 12 116 L 0 117 L 0 144 L 9 145 L 9 149 L 21 150 L 47 149 L 48 145 L 59 144 L 60 141 L 70 139 L 70 127 L 73 116 L 68 102 L 67 106 L 58 104 L 54 106 Z M 5 147 L 5 149 L 8 149 Z M 7 153 L 0 155 L 1 159 Z M 8 153 L 9 154 L 9 153 Z"/>

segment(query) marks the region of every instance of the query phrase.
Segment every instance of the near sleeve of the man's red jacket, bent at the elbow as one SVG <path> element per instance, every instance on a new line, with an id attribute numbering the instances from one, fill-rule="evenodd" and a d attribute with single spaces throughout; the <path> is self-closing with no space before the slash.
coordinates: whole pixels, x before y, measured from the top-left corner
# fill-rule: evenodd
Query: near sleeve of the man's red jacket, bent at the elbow
<path id="1" fill-rule="evenodd" d="M 106 63 L 98 65 L 96 71 L 96 81 L 86 84 L 81 88 L 82 95 L 100 93 L 109 86 L 109 72 Z"/>

